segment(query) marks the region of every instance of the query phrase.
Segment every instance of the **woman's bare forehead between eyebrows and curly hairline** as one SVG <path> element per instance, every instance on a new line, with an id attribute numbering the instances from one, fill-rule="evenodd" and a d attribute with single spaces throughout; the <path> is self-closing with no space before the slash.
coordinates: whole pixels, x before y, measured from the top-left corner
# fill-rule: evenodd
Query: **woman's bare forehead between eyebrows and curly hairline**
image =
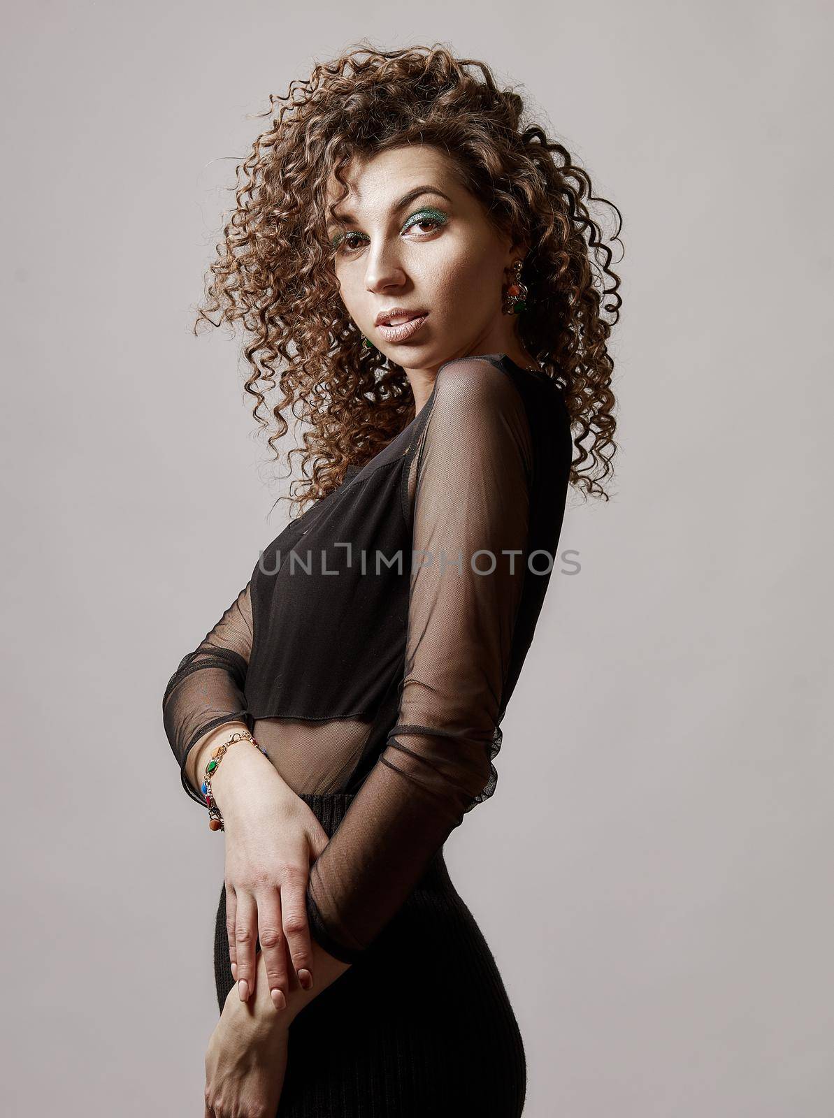
<path id="1" fill-rule="evenodd" d="M 411 187 L 430 182 L 452 195 L 459 190 L 452 160 L 437 148 L 411 144 L 391 148 L 376 155 L 354 155 L 343 172 L 349 193 L 341 198 L 342 186 L 331 174 L 326 188 L 328 205 L 337 199 L 345 208 L 392 203 Z M 339 212 L 339 209 L 337 210 Z"/>

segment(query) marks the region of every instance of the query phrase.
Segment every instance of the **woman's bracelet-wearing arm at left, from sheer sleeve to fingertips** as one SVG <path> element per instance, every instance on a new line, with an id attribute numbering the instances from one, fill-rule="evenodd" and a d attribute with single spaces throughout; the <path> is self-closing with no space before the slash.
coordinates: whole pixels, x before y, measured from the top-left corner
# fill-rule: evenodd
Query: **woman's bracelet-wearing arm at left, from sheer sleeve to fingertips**
<path id="1" fill-rule="evenodd" d="M 199 789 L 212 749 L 235 730 L 253 728 L 245 697 L 254 634 L 250 588 L 248 582 L 182 659 L 162 700 L 182 787 L 207 811 Z M 267 997 L 274 991 L 282 1004 L 290 995 L 288 970 L 296 980 L 313 982 L 305 890 L 310 863 L 328 834 L 271 761 L 247 742 L 228 750 L 211 790 L 225 824 L 227 935 L 239 997 L 247 1001 L 255 987 L 259 939 Z"/>

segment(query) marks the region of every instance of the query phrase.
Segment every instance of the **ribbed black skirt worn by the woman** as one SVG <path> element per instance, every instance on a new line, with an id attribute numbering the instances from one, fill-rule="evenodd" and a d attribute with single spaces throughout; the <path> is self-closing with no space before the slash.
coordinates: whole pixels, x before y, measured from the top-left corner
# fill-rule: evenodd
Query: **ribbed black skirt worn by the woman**
<path id="1" fill-rule="evenodd" d="M 352 794 L 303 795 L 329 836 Z M 215 928 L 222 1012 L 234 985 L 226 888 Z M 290 1026 L 277 1118 L 519 1118 L 521 1033 L 443 851 L 377 939 Z"/>

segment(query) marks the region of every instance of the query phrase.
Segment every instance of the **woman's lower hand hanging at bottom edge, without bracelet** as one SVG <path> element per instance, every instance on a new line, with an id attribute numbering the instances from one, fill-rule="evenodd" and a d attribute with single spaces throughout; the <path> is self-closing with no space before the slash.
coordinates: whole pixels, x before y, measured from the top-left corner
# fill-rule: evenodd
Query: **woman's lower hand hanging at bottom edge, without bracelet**
<path id="1" fill-rule="evenodd" d="M 233 986 L 211 1034 L 203 1118 L 272 1118 L 278 1109 L 290 1015 L 276 1011 L 268 983 L 258 980 L 255 991 L 255 997 L 241 1002 Z"/>

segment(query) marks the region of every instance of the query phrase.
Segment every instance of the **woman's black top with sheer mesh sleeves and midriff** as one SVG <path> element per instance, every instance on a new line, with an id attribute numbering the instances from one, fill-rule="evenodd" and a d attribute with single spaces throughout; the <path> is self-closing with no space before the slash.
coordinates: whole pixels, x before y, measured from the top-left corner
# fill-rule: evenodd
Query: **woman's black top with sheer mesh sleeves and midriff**
<path id="1" fill-rule="evenodd" d="M 399 435 L 268 544 L 168 683 L 165 732 L 203 806 L 186 758 L 238 720 L 296 793 L 356 793 L 307 887 L 311 934 L 343 961 L 495 788 L 571 458 L 547 373 L 447 361 Z"/>

